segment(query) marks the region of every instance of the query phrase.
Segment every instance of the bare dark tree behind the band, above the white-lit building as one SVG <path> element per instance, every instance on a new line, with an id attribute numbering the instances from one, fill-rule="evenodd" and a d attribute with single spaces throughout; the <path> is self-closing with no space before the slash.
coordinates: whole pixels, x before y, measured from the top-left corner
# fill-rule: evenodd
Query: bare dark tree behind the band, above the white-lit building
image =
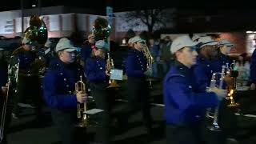
<path id="1" fill-rule="evenodd" d="M 127 12 L 125 18 L 130 26 L 139 26 L 142 22 L 152 33 L 153 30 L 173 25 L 174 10 L 136 10 Z"/>

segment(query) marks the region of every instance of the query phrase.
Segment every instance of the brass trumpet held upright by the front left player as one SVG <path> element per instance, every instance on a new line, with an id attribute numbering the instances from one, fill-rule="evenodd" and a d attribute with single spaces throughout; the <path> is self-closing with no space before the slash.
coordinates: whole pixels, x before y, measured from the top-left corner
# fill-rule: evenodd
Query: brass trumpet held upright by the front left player
<path id="1" fill-rule="evenodd" d="M 86 84 L 82 82 L 82 76 L 80 76 L 80 81 L 75 83 L 75 92 L 76 94 L 78 91 L 82 91 L 82 93 L 86 93 Z M 86 114 L 86 110 L 88 109 L 87 103 L 82 103 L 83 109 L 80 107 L 80 103 L 78 103 L 78 111 L 77 111 L 77 117 L 80 118 L 80 122 L 78 122 L 78 127 L 88 127 L 88 126 L 96 126 L 97 122 L 93 122 L 90 120 L 90 117 L 88 114 Z M 81 113 L 83 115 L 81 115 Z"/>

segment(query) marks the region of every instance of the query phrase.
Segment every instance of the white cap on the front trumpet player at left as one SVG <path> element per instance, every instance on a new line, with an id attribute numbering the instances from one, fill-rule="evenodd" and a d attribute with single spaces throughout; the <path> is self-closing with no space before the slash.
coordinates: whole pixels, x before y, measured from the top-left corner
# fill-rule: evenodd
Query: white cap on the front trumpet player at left
<path id="1" fill-rule="evenodd" d="M 74 47 L 70 40 L 68 38 L 61 38 L 55 48 L 56 52 L 60 51 L 60 50 L 66 50 L 66 51 L 74 51 L 77 50 L 76 47 Z"/>

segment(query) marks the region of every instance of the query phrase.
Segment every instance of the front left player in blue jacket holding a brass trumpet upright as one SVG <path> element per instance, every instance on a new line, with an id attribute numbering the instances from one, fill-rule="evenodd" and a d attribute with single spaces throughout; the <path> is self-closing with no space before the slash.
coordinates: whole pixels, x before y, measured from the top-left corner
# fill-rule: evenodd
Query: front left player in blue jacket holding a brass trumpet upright
<path id="1" fill-rule="evenodd" d="M 84 78 L 82 66 L 75 63 L 76 50 L 69 39 L 61 38 L 56 46 L 58 58 L 51 62 L 43 79 L 43 97 L 51 108 L 63 144 L 84 142 L 84 135 L 78 138 L 74 126 L 78 122 L 78 102 L 86 102 L 86 94 L 82 91 L 74 94 L 75 83 L 80 80 L 80 76 Z"/>

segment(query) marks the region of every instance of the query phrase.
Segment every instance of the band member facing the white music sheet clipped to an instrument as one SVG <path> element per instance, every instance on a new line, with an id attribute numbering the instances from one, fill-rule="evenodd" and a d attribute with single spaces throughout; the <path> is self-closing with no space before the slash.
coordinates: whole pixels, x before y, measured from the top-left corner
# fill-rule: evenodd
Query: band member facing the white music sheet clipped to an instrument
<path id="1" fill-rule="evenodd" d="M 102 143 L 110 143 L 110 97 L 108 97 L 108 86 L 110 70 L 106 67 L 106 52 L 108 44 L 103 40 L 95 43 L 92 56 L 87 58 L 85 71 L 90 83 L 91 94 L 95 99 L 96 107 L 104 110 L 101 114 L 101 129 L 98 130 L 99 141 Z"/>

